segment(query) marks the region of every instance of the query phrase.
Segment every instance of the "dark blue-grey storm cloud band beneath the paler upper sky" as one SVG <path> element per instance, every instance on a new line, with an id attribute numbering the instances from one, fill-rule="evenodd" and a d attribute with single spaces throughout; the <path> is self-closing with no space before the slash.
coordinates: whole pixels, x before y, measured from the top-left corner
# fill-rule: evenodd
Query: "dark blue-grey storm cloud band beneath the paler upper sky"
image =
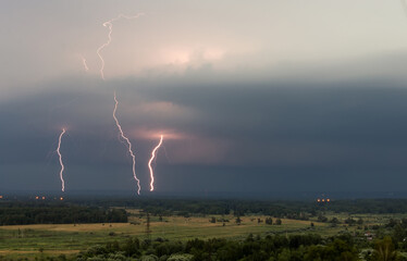
<path id="1" fill-rule="evenodd" d="M 168 134 L 157 160 L 162 191 L 403 188 L 407 89 L 397 83 L 176 83 L 64 80 L 2 103 L 1 188 L 58 188 L 54 149 L 66 127 L 67 189 L 132 189 L 114 90 L 144 186 L 150 150 Z"/>

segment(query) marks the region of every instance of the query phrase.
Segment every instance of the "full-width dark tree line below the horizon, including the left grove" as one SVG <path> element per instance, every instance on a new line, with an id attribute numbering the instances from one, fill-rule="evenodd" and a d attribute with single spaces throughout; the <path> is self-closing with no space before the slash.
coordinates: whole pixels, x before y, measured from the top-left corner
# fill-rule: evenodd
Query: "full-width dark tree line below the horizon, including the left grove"
<path id="1" fill-rule="evenodd" d="M 317 201 L 282 200 L 237 200 L 237 199 L 171 199 L 171 198 L 75 198 L 64 202 L 0 201 L 0 225 L 4 224 L 47 224 L 47 223 L 91 223 L 126 222 L 123 210 L 112 207 L 141 209 L 155 216 L 229 215 L 237 216 L 261 214 L 279 219 L 307 221 L 318 217 L 328 221 L 328 211 L 349 214 L 358 213 L 406 213 L 407 199 L 359 199 Z M 361 221 L 347 220 L 346 224 Z"/>

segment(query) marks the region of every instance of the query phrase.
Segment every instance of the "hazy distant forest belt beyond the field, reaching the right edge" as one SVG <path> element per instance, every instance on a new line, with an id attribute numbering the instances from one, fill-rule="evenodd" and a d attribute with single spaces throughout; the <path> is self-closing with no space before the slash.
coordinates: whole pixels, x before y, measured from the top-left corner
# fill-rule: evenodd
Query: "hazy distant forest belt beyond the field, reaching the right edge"
<path id="1" fill-rule="evenodd" d="M 171 198 L 108 198 L 81 200 L 75 203 L 86 203 L 102 207 L 125 207 L 143 209 L 152 215 L 192 214 L 263 214 L 294 220 L 309 220 L 319 213 L 333 211 L 336 213 L 405 213 L 407 199 L 357 199 L 316 201 L 282 201 L 282 200 L 234 200 L 234 199 L 171 199 Z"/>

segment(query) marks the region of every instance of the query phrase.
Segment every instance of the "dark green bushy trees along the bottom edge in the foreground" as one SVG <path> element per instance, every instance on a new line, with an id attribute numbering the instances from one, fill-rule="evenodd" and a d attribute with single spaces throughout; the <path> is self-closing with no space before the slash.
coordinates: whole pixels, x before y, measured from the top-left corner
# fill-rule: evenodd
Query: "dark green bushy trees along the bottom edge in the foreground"
<path id="1" fill-rule="evenodd" d="M 186 243 L 139 240 L 128 238 L 125 243 L 108 243 L 81 252 L 78 261 L 90 260 L 141 260 L 141 261 L 357 261 L 360 256 L 368 261 L 406 260 L 394 248 L 390 237 L 378 240 L 372 250 L 359 254 L 353 237 L 342 235 L 328 239 L 319 235 L 267 236 L 249 235 L 244 241 L 213 238 L 193 239 Z"/>

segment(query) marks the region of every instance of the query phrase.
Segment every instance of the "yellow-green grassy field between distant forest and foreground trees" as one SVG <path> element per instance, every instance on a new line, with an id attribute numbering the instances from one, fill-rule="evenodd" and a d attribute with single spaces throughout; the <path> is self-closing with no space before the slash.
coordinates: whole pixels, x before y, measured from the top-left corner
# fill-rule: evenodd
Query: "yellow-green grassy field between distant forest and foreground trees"
<path id="1" fill-rule="evenodd" d="M 72 254 L 87 249 L 89 246 L 106 244 L 114 240 L 125 240 L 128 237 L 137 236 L 140 239 L 147 238 L 146 216 L 139 217 L 138 211 L 128 211 L 130 223 L 112 224 L 61 224 L 61 225 L 16 225 L 0 227 L 0 256 L 3 257 L 37 257 Z M 240 225 L 236 224 L 233 215 L 215 216 L 226 219 L 222 222 L 210 223 L 214 215 L 206 217 L 182 217 L 165 216 L 159 221 L 158 216 L 150 219 L 150 237 L 168 238 L 172 240 L 188 240 L 192 238 L 246 238 L 250 233 L 254 235 L 271 234 L 305 234 L 317 233 L 321 236 L 333 236 L 342 231 L 363 232 L 365 225 L 384 224 L 391 217 L 403 217 L 402 215 L 354 215 L 362 217 L 363 227 L 347 227 L 343 224 L 332 227 L 329 223 L 310 221 L 282 220 L 282 225 L 268 225 L 264 222 L 258 223 L 257 219 L 264 220 L 267 216 L 243 216 Z M 326 213 L 332 219 L 336 216 L 341 222 L 348 217 L 347 214 Z M 275 219 L 273 219 L 275 221 Z M 314 224 L 310 226 L 311 222 Z"/>

